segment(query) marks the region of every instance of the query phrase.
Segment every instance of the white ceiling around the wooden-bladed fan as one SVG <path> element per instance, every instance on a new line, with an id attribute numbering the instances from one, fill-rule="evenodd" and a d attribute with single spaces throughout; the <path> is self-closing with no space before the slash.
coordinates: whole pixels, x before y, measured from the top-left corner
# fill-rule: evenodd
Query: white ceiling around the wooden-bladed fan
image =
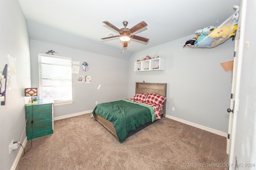
<path id="1" fill-rule="evenodd" d="M 48 43 L 52 42 L 50 35 L 60 31 L 95 45 L 107 45 L 120 50 L 121 42 L 118 38 L 100 39 L 107 37 L 108 33 L 119 35 L 102 21 L 109 21 L 118 28 L 124 27 L 123 21 L 128 21 L 128 28 L 145 21 L 148 26 L 133 34 L 148 38 L 149 42 L 131 40 L 124 49 L 128 53 L 193 35 L 202 27 L 218 26 L 235 12 L 233 6 L 240 3 L 240 0 L 18 1 L 28 21 L 30 38 Z M 33 33 L 33 30 L 40 30 L 40 33 Z M 58 42 L 55 38 L 53 43 L 63 45 L 63 41 L 59 39 Z M 74 44 L 71 38 L 65 42 L 66 46 L 75 48 Z"/>

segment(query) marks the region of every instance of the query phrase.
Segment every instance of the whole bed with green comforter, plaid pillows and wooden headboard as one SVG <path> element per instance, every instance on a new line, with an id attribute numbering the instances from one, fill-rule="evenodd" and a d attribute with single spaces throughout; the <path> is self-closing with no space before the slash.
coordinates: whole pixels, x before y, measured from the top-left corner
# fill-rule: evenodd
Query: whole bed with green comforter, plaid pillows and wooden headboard
<path id="1" fill-rule="evenodd" d="M 98 104 L 92 111 L 92 116 L 122 143 L 126 138 L 165 117 L 166 86 L 166 83 L 136 82 L 133 98 Z M 153 99 L 154 96 L 158 97 L 158 107 L 156 100 L 151 102 L 152 96 Z M 141 101 L 137 101 L 138 99 Z M 144 102 L 148 102 L 147 105 Z"/>

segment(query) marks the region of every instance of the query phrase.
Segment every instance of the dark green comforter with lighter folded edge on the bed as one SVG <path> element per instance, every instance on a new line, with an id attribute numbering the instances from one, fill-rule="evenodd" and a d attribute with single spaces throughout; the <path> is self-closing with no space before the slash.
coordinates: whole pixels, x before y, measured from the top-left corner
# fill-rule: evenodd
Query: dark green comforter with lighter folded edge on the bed
<path id="1" fill-rule="evenodd" d="M 92 115 L 94 113 L 113 123 L 120 143 L 136 127 L 155 120 L 154 109 L 151 106 L 129 100 L 98 104 L 92 111 Z"/>

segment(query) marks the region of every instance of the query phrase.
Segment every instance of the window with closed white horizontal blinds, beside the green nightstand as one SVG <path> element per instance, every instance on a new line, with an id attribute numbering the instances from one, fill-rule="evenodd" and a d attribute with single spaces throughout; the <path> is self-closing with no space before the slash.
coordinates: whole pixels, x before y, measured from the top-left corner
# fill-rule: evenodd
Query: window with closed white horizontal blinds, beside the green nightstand
<path id="1" fill-rule="evenodd" d="M 57 105 L 72 103 L 71 58 L 39 53 L 38 62 L 40 98 L 53 98 Z"/>

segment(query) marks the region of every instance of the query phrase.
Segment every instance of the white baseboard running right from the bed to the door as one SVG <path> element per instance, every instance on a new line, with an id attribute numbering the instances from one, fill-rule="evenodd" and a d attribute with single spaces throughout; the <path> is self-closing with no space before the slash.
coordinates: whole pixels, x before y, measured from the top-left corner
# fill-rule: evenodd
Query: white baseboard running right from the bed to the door
<path id="1" fill-rule="evenodd" d="M 210 127 L 206 127 L 206 126 L 202 126 L 202 125 L 199 125 L 199 124 L 196 124 L 196 123 L 192 123 L 190 121 L 186 121 L 186 120 L 183 120 L 183 119 L 179 119 L 177 117 L 173 117 L 173 116 L 169 116 L 169 115 L 165 115 L 167 118 L 169 119 L 173 119 L 173 120 L 176 120 L 176 121 L 179 121 L 181 123 L 185 123 L 187 125 L 190 125 L 190 126 L 193 126 L 193 127 L 197 127 L 199 129 L 203 129 L 205 131 L 208 131 L 208 132 L 211 132 L 211 133 L 214 133 L 214 134 L 217 134 L 217 135 L 220 135 L 220 136 L 223 136 L 223 137 L 228 137 L 228 133 L 225 133 L 225 132 L 222 132 L 222 131 L 218 131 L 216 129 L 212 129 Z"/>

